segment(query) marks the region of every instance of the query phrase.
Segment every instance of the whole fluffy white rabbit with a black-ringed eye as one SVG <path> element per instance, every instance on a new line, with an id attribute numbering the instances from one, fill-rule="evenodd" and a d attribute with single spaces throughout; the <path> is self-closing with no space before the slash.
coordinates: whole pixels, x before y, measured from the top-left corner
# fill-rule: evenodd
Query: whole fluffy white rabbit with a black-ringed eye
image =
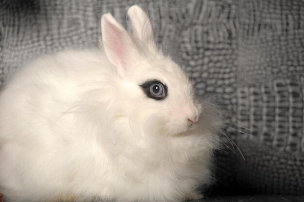
<path id="1" fill-rule="evenodd" d="M 12 202 L 198 199 L 212 181 L 219 127 L 181 68 L 157 49 L 148 16 L 133 36 L 101 17 L 103 50 L 22 68 L 0 95 L 0 192 Z M 205 108 L 204 108 L 205 107 Z"/>

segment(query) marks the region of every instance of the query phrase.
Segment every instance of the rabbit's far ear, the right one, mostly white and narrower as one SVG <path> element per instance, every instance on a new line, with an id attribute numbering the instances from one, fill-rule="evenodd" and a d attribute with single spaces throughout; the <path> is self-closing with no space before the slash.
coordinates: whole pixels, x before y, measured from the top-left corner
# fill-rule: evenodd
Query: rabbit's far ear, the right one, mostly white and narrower
<path id="1" fill-rule="evenodd" d="M 144 44 L 154 44 L 153 30 L 149 17 L 137 5 L 133 5 L 128 10 L 128 16 L 132 23 L 133 35 Z"/>

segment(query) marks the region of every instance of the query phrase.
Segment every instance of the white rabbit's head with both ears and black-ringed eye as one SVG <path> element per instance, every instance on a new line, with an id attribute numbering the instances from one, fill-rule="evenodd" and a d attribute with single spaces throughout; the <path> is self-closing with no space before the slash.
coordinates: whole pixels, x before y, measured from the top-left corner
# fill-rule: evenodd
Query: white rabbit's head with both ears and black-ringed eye
<path id="1" fill-rule="evenodd" d="M 189 79 L 157 49 L 148 16 L 136 5 L 128 16 L 133 35 L 111 14 L 101 18 L 102 45 L 117 72 L 123 116 L 142 134 L 172 136 L 194 130 L 202 108 Z"/>

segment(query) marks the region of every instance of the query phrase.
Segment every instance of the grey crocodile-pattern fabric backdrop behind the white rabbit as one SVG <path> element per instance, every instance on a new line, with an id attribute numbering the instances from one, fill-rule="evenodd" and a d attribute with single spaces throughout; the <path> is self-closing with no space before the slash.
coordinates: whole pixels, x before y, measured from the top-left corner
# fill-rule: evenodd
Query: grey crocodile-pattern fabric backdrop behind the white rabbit
<path id="1" fill-rule="evenodd" d="M 104 13 L 131 30 L 135 3 L 238 146 L 223 135 L 214 190 L 304 194 L 303 0 L 1 0 L 0 85 L 41 54 L 98 46 Z"/>

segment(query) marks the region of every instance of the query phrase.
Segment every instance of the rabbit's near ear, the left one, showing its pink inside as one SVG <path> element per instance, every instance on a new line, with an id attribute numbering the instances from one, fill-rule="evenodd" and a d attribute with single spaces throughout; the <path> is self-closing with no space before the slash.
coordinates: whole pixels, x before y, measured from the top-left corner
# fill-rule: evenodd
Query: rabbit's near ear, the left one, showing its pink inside
<path id="1" fill-rule="evenodd" d="M 101 17 L 101 34 L 105 54 L 118 73 L 130 71 L 136 48 L 128 32 L 108 13 Z"/>

